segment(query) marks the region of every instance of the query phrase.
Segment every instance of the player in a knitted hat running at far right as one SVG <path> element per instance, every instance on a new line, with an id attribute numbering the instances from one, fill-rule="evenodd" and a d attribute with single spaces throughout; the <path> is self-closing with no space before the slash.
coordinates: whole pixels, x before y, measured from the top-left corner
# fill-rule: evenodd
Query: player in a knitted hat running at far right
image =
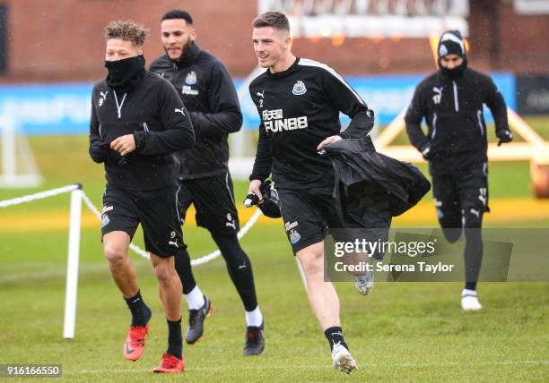
<path id="1" fill-rule="evenodd" d="M 410 142 L 429 162 L 432 188 L 442 232 L 456 242 L 465 231 L 466 285 L 461 306 L 482 308 L 476 294 L 483 243 L 481 226 L 488 209 L 488 157 L 483 108 L 488 106 L 499 144 L 513 136 L 507 106 L 492 79 L 467 67 L 465 40 L 457 30 L 440 37 L 439 71 L 415 89 L 405 115 Z M 422 131 L 425 119 L 427 134 Z"/>

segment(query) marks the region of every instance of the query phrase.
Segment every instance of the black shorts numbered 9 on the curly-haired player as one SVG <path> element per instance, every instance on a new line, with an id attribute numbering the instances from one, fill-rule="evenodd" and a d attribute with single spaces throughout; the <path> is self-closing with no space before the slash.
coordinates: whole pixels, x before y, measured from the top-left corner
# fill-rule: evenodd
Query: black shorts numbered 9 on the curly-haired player
<path id="1" fill-rule="evenodd" d="M 133 238 L 141 224 L 146 251 L 161 258 L 176 255 L 185 246 L 179 224 L 178 191 L 176 184 L 149 191 L 127 191 L 107 185 L 101 238 L 114 231 L 126 232 Z"/>

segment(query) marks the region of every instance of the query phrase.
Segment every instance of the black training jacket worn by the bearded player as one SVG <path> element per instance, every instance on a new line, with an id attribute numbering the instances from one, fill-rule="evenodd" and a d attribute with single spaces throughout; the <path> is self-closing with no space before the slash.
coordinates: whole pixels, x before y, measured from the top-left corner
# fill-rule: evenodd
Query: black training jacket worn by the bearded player
<path id="1" fill-rule="evenodd" d="M 227 68 L 193 42 L 177 63 L 162 55 L 153 61 L 151 71 L 177 89 L 195 128 L 195 148 L 178 153 L 180 178 L 227 173 L 228 136 L 242 126 L 239 98 Z"/>

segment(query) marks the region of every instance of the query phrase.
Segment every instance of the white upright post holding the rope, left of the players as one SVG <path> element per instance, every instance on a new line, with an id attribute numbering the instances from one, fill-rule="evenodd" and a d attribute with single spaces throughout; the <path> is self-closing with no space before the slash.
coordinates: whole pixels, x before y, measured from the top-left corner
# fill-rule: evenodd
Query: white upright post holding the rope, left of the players
<path id="1" fill-rule="evenodd" d="M 76 322 L 76 296 L 78 292 L 78 261 L 80 256 L 80 224 L 82 217 L 82 185 L 71 191 L 71 213 L 69 222 L 68 255 L 65 285 L 65 321 L 63 337 L 74 339 Z"/>

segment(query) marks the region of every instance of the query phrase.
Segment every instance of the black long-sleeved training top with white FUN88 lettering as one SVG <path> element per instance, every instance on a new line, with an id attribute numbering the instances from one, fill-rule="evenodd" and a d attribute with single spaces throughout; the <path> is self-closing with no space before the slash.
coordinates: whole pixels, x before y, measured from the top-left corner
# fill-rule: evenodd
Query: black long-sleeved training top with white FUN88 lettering
<path id="1" fill-rule="evenodd" d="M 361 138 L 373 127 L 373 112 L 327 64 L 297 58 L 286 71 L 266 70 L 249 85 L 261 117 L 250 180 L 273 174 L 277 188 L 334 185 L 334 169 L 318 144 L 327 137 Z M 341 132 L 339 113 L 351 117 Z"/>

